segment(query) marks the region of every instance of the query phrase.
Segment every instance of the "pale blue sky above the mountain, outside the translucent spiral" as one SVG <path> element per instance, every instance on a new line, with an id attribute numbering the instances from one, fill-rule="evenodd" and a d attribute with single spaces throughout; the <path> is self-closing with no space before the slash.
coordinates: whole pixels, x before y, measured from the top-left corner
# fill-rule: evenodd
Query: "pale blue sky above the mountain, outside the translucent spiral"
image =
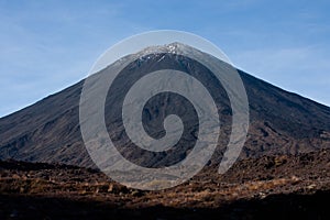
<path id="1" fill-rule="evenodd" d="M 330 106 L 330 1 L 0 0 L 0 117 L 85 78 L 118 41 L 179 30 L 248 73 Z"/>

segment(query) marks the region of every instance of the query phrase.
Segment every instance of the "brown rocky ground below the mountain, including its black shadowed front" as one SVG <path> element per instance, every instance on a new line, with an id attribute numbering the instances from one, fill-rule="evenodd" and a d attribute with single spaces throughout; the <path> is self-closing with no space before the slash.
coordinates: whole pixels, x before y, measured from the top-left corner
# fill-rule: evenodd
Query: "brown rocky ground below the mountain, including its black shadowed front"
<path id="1" fill-rule="evenodd" d="M 211 166 L 161 191 L 91 168 L 0 163 L 0 219 L 329 219 L 329 196 L 330 150 Z"/>

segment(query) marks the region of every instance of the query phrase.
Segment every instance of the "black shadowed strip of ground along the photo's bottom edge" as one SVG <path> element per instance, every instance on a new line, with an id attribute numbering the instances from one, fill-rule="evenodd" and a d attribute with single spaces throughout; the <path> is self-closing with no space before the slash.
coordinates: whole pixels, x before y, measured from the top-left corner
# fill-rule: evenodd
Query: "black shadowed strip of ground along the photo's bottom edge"
<path id="1" fill-rule="evenodd" d="M 329 219 L 330 191 L 237 200 L 219 208 L 153 206 L 114 208 L 111 202 L 1 195 L 1 219 Z"/>

